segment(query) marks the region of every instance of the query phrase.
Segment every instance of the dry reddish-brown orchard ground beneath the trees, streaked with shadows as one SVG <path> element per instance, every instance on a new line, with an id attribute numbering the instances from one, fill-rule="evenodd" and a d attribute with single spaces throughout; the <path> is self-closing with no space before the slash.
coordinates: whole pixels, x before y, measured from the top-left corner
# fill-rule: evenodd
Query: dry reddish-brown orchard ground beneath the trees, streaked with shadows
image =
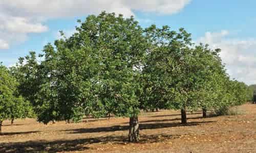
<path id="1" fill-rule="evenodd" d="M 129 118 L 86 118 L 44 125 L 34 119 L 4 121 L 0 152 L 256 152 L 256 105 L 242 115 L 201 118 L 178 111 L 142 113 L 140 142 L 128 143 Z M 241 112 L 240 111 L 240 112 Z"/>

